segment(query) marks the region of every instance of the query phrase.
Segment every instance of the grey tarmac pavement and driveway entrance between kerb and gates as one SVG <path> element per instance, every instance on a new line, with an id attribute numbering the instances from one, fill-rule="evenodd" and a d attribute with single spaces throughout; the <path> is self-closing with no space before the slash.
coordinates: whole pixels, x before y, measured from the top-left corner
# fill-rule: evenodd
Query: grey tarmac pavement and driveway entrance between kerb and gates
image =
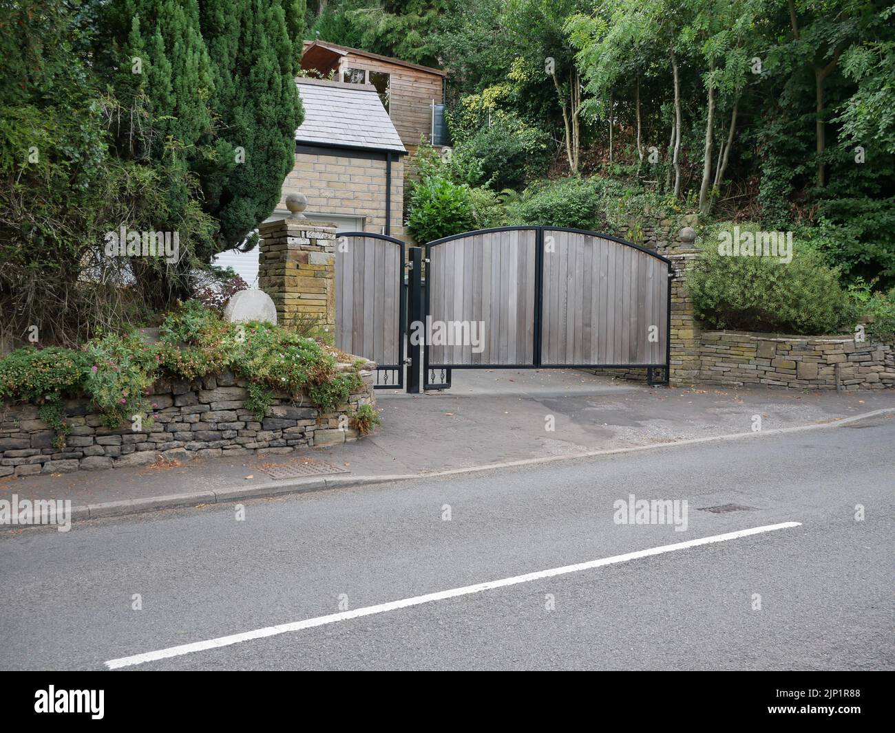
<path id="1" fill-rule="evenodd" d="M 275 479 L 268 471 L 325 463 L 359 477 L 431 474 L 507 461 L 656 445 L 752 429 L 825 423 L 895 408 L 891 392 L 788 392 L 707 387 L 650 389 L 576 370 L 456 370 L 449 392 L 378 392 L 383 425 L 362 441 L 290 456 L 193 461 L 183 467 L 117 469 L 0 479 L 0 497 L 71 499 L 75 507 L 141 502 L 111 511 L 155 508 L 158 496 L 178 503 L 221 501 L 243 491 L 268 494 L 325 486 Z M 549 430 L 552 426 L 554 429 Z M 191 496 L 184 497 L 185 494 Z M 129 509 L 131 507 L 131 509 Z M 94 511 L 93 516 L 100 512 Z M 86 516 L 86 513 L 85 513 Z"/>

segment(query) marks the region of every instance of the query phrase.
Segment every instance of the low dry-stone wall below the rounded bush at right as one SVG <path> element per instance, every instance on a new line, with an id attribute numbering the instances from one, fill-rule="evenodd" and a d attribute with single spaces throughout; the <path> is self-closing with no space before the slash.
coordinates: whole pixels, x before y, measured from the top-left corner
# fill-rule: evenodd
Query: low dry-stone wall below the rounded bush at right
<path id="1" fill-rule="evenodd" d="M 848 336 L 703 331 L 695 381 L 810 390 L 895 387 L 895 345 Z"/>

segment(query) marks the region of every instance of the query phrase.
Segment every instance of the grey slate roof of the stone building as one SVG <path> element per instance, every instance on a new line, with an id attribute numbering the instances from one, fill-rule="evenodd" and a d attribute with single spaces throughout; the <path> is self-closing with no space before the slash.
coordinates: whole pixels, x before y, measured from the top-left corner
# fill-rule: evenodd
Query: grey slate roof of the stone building
<path id="1" fill-rule="evenodd" d="M 407 152 L 371 84 L 304 78 L 295 83 L 304 105 L 296 142 Z"/>

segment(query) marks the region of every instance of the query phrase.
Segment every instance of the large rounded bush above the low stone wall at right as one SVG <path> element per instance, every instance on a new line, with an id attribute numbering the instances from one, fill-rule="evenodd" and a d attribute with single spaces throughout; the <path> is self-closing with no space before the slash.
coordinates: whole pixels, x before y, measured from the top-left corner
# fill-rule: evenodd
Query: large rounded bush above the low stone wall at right
<path id="1" fill-rule="evenodd" d="M 856 316 L 837 272 L 810 250 L 783 264 L 777 257 L 725 257 L 707 244 L 687 288 L 696 317 L 710 328 L 836 333 Z"/>

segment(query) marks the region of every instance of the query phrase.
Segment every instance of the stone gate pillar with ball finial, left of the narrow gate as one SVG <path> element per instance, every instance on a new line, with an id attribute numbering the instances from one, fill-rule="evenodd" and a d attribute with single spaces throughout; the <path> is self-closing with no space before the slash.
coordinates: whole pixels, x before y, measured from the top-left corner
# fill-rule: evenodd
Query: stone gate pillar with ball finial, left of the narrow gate
<path id="1" fill-rule="evenodd" d="M 302 194 L 290 194 L 286 206 L 286 219 L 259 227 L 258 287 L 273 299 L 278 324 L 314 322 L 335 337 L 336 225 L 304 218 Z"/>

